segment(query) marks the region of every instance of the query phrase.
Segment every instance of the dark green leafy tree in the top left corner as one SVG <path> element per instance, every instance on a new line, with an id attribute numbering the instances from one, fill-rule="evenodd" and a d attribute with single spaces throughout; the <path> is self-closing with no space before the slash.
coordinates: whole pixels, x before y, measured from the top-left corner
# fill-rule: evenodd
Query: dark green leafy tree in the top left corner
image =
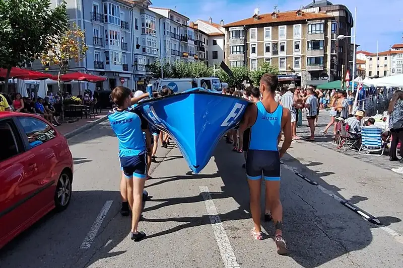
<path id="1" fill-rule="evenodd" d="M 53 10 L 50 1 L 0 1 L 0 67 L 8 69 L 6 88 L 11 68 L 38 59 L 68 25 L 64 1 Z"/>

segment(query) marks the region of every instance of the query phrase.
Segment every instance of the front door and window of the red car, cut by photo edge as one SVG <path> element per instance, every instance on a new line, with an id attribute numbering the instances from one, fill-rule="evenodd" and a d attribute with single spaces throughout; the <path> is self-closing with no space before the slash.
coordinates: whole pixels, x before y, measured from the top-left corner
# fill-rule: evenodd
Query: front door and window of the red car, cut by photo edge
<path id="1" fill-rule="evenodd" d="M 35 168 L 27 164 L 32 157 L 25 151 L 20 132 L 11 118 L 0 120 L 0 247 L 22 231 L 30 218 L 24 210 L 29 196 L 26 185 L 32 180 Z"/>

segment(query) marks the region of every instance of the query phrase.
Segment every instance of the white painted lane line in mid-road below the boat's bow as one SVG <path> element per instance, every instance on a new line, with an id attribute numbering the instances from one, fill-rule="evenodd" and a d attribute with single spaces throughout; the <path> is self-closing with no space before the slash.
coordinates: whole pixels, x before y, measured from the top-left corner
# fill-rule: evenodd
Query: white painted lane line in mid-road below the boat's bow
<path id="1" fill-rule="evenodd" d="M 231 247 L 230 240 L 225 232 L 223 223 L 220 216 L 218 216 L 216 205 L 211 198 L 209 188 L 207 186 L 200 186 L 200 194 L 205 200 L 206 210 L 209 214 L 210 223 L 213 228 L 214 236 L 220 250 L 221 258 L 224 262 L 225 268 L 240 268 L 241 266 L 236 261 L 234 250 Z"/>

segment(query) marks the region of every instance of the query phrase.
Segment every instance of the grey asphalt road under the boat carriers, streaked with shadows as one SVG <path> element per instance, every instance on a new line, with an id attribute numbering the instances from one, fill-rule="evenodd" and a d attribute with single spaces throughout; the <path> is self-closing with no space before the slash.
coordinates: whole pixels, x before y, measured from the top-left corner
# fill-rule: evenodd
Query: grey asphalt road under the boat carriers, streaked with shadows
<path id="1" fill-rule="evenodd" d="M 147 191 L 153 198 L 140 223 L 148 238 L 136 243 L 129 238 L 130 218 L 119 213 L 117 140 L 108 123 L 69 144 L 75 161 L 70 207 L 50 213 L 3 248 L 1 268 L 403 267 L 402 178 L 367 162 L 293 143 L 283 159 L 281 189 L 290 252 L 279 256 L 271 223 L 263 223 L 263 241 L 250 235 L 243 156 L 229 145 L 220 143 L 198 175 L 190 174 L 177 148 L 159 148 L 163 161 L 152 166 Z M 387 227 L 369 223 L 331 195 Z"/>

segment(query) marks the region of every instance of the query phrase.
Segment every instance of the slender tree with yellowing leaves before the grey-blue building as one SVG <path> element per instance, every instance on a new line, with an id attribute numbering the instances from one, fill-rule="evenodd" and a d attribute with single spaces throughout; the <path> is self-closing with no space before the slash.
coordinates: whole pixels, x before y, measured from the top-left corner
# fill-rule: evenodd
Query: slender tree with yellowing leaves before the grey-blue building
<path id="1" fill-rule="evenodd" d="M 73 23 L 72 28 L 53 38 L 49 43 L 50 49 L 42 54 L 41 60 L 43 64 L 59 66 L 57 82 L 60 90 L 60 75 L 69 70 L 70 60 L 78 63 L 86 56 L 88 46 L 85 44 L 85 32 Z"/>

